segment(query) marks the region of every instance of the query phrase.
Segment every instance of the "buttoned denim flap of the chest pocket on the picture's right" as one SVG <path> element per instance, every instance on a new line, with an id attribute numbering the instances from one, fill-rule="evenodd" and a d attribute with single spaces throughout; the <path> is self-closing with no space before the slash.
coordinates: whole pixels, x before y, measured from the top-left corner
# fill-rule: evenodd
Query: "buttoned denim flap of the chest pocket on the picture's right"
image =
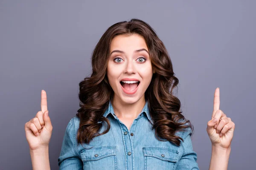
<path id="1" fill-rule="evenodd" d="M 179 152 L 164 147 L 143 147 L 144 156 L 152 156 L 163 161 L 177 162 Z"/>

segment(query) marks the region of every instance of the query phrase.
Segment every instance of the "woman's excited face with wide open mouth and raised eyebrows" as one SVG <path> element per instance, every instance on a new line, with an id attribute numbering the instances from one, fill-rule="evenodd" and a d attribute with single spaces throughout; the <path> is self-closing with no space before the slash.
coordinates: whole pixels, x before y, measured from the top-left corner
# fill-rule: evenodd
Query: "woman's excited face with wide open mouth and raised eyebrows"
<path id="1" fill-rule="evenodd" d="M 110 46 L 107 77 L 114 99 L 132 104 L 145 99 L 153 75 L 144 38 L 138 34 L 118 35 Z"/>

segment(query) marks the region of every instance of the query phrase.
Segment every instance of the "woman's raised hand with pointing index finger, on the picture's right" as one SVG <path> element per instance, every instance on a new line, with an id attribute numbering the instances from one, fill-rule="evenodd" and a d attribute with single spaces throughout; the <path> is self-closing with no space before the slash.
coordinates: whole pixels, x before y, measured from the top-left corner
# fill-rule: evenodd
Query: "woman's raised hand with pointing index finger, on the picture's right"
<path id="1" fill-rule="evenodd" d="M 220 89 L 214 93 L 212 120 L 207 123 L 207 133 L 213 146 L 229 148 L 235 123 L 220 110 Z"/>

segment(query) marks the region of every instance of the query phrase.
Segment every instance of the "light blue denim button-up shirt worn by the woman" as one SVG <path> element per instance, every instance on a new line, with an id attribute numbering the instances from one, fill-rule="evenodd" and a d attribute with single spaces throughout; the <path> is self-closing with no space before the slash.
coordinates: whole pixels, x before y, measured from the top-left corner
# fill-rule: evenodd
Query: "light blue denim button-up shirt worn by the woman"
<path id="1" fill-rule="evenodd" d="M 116 117 L 111 102 L 103 116 L 110 121 L 108 133 L 83 145 L 76 139 L 79 118 L 70 119 L 58 157 L 60 170 L 199 170 L 190 128 L 175 133 L 184 140 L 180 146 L 159 141 L 151 130 L 148 102 L 130 130 Z"/>

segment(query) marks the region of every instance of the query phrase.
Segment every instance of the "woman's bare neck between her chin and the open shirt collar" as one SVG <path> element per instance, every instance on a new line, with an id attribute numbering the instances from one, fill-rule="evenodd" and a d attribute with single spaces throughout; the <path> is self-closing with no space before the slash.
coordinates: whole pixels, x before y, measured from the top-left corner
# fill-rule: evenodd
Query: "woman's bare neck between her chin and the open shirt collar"
<path id="1" fill-rule="evenodd" d="M 119 98 L 113 98 L 112 106 L 118 118 L 136 119 L 145 106 L 145 96 L 135 103 L 125 103 Z"/>

